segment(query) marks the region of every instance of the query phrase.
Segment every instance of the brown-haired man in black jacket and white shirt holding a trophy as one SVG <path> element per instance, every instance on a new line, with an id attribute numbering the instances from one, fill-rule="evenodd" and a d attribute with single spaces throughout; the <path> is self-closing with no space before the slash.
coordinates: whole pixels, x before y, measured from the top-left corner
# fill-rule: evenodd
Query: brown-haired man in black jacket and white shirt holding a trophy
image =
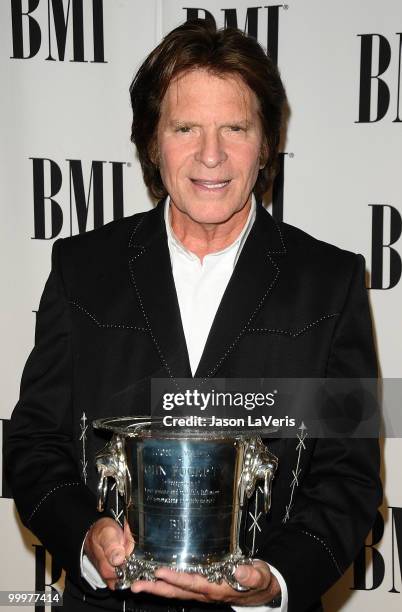
<path id="1" fill-rule="evenodd" d="M 131 99 L 144 179 L 163 200 L 55 243 L 12 417 L 17 507 L 67 570 L 66 609 L 318 610 L 374 520 L 374 440 L 270 442 L 280 467 L 257 533 L 261 560 L 236 572 L 248 591 L 166 568 L 155 583 L 113 591 L 135 545 L 127 526 L 96 513 L 105 441 L 88 430 L 82 456 L 84 413 L 143 414 L 158 377 L 376 375 L 362 257 L 277 225 L 256 204 L 285 99 L 259 45 L 187 23 L 145 60 Z"/>

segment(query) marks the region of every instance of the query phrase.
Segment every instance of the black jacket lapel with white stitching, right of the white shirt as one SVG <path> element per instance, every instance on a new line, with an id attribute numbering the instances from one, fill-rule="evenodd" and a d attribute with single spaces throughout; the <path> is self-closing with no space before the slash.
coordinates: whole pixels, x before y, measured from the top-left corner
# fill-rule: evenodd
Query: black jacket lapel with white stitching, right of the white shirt
<path id="1" fill-rule="evenodd" d="M 278 256 L 286 253 L 271 215 L 257 205 L 256 220 L 219 305 L 196 378 L 214 376 L 235 348 L 279 278 Z"/>

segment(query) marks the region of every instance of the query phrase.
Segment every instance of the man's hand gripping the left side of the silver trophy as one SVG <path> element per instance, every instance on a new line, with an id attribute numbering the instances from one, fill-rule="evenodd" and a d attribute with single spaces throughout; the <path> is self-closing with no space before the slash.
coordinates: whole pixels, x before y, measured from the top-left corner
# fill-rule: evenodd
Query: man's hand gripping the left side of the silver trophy
<path id="1" fill-rule="evenodd" d="M 134 540 L 127 521 L 124 531 L 112 518 L 101 518 L 88 531 L 84 552 L 106 582 L 109 589 L 115 588 L 115 567 L 121 565 L 134 548 Z"/>

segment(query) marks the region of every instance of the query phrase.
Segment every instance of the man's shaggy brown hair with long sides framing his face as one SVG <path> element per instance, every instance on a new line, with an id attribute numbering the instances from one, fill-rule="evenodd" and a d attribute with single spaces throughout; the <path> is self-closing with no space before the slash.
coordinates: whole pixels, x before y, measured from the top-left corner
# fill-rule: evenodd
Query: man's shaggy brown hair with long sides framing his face
<path id="1" fill-rule="evenodd" d="M 145 184 L 155 198 L 167 195 L 156 154 L 161 104 L 171 81 L 197 68 L 222 77 L 240 77 L 256 95 L 268 147 L 266 165 L 254 186 L 261 199 L 276 174 L 285 90 L 278 69 L 255 39 L 235 28 L 218 30 L 212 20 L 205 19 L 188 21 L 167 34 L 131 83 L 131 140 L 137 147 Z"/>

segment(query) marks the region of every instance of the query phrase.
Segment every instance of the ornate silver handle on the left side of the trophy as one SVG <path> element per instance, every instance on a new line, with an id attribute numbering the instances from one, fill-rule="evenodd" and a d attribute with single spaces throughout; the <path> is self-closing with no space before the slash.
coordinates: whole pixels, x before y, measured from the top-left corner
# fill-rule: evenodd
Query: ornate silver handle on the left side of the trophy
<path id="1" fill-rule="evenodd" d="M 126 507 L 131 502 L 131 476 L 127 467 L 124 439 L 114 434 L 110 442 L 96 455 L 96 467 L 99 473 L 98 510 L 105 507 L 108 491 L 108 478 L 113 478 L 118 492 L 124 498 Z"/>

